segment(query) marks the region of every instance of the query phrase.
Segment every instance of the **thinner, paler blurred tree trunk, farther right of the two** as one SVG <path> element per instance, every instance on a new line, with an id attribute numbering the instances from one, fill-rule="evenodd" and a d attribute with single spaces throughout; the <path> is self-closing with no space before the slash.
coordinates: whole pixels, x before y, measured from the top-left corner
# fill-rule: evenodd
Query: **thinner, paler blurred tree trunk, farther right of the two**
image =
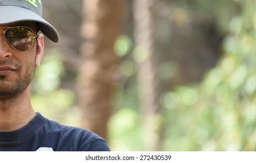
<path id="1" fill-rule="evenodd" d="M 134 1 L 134 38 L 137 58 L 140 104 L 144 116 L 146 150 L 161 149 L 161 107 L 158 95 L 157 52 L 152 8 L 154 0 Z"/>

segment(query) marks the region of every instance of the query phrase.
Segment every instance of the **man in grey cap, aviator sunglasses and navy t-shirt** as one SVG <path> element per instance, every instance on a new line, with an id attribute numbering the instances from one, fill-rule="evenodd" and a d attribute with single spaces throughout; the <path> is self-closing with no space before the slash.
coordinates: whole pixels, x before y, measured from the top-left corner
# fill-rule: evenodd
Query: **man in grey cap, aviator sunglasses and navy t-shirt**
<path id="1" fill-rule="evenodd" d="M 34 112 L 30 82 L 43 56 L 44 35 L 59 41 L 41 15 L 41 0 L 0 0 L 0 151 L 110 151 L 95 133 Z"/>

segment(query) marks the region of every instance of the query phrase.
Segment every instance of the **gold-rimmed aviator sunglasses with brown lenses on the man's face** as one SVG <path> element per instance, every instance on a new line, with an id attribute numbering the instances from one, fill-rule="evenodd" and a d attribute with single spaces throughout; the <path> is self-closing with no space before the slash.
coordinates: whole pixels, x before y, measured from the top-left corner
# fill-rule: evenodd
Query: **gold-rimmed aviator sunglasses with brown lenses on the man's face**
<path id="1" fill-rule="evenodd" d="M 25 26 L 14 27 L 0 27 L 0 30 L 4 31 L 4 37 L 6 42 L 18 52 L 26 52 L 32 48 L 34 44 L 34 38 L 37 36 L 33 33 L 33 30 Z"/>

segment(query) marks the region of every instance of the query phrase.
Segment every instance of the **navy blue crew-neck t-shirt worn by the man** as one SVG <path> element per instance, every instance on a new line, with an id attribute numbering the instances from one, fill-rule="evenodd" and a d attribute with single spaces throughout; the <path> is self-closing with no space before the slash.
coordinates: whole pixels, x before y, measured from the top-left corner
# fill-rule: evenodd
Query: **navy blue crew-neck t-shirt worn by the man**
<path id="1" fill-rule="evenodd" d="M 34 119 L 21 129 L 0 132 L 0 151 L 110 151 L 106 140 L 78 127 L 50 121 L 37 112 Z"/>

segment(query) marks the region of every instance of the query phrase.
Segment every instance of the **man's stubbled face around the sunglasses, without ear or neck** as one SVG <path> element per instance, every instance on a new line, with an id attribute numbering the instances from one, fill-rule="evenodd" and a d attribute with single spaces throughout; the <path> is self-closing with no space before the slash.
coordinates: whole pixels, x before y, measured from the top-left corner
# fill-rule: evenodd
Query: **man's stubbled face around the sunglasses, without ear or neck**
<path id="1" fill-rule="evenodd" d="M 35 33 L 36 23 L 19 22 L 0 27 L 27 26 Z M 6 42 L 0 31 L 0 98 L 9 98 L 22 93 L 33 79 L 36 67 L 36 40 L 26 52 L 19 52 Z"/>

